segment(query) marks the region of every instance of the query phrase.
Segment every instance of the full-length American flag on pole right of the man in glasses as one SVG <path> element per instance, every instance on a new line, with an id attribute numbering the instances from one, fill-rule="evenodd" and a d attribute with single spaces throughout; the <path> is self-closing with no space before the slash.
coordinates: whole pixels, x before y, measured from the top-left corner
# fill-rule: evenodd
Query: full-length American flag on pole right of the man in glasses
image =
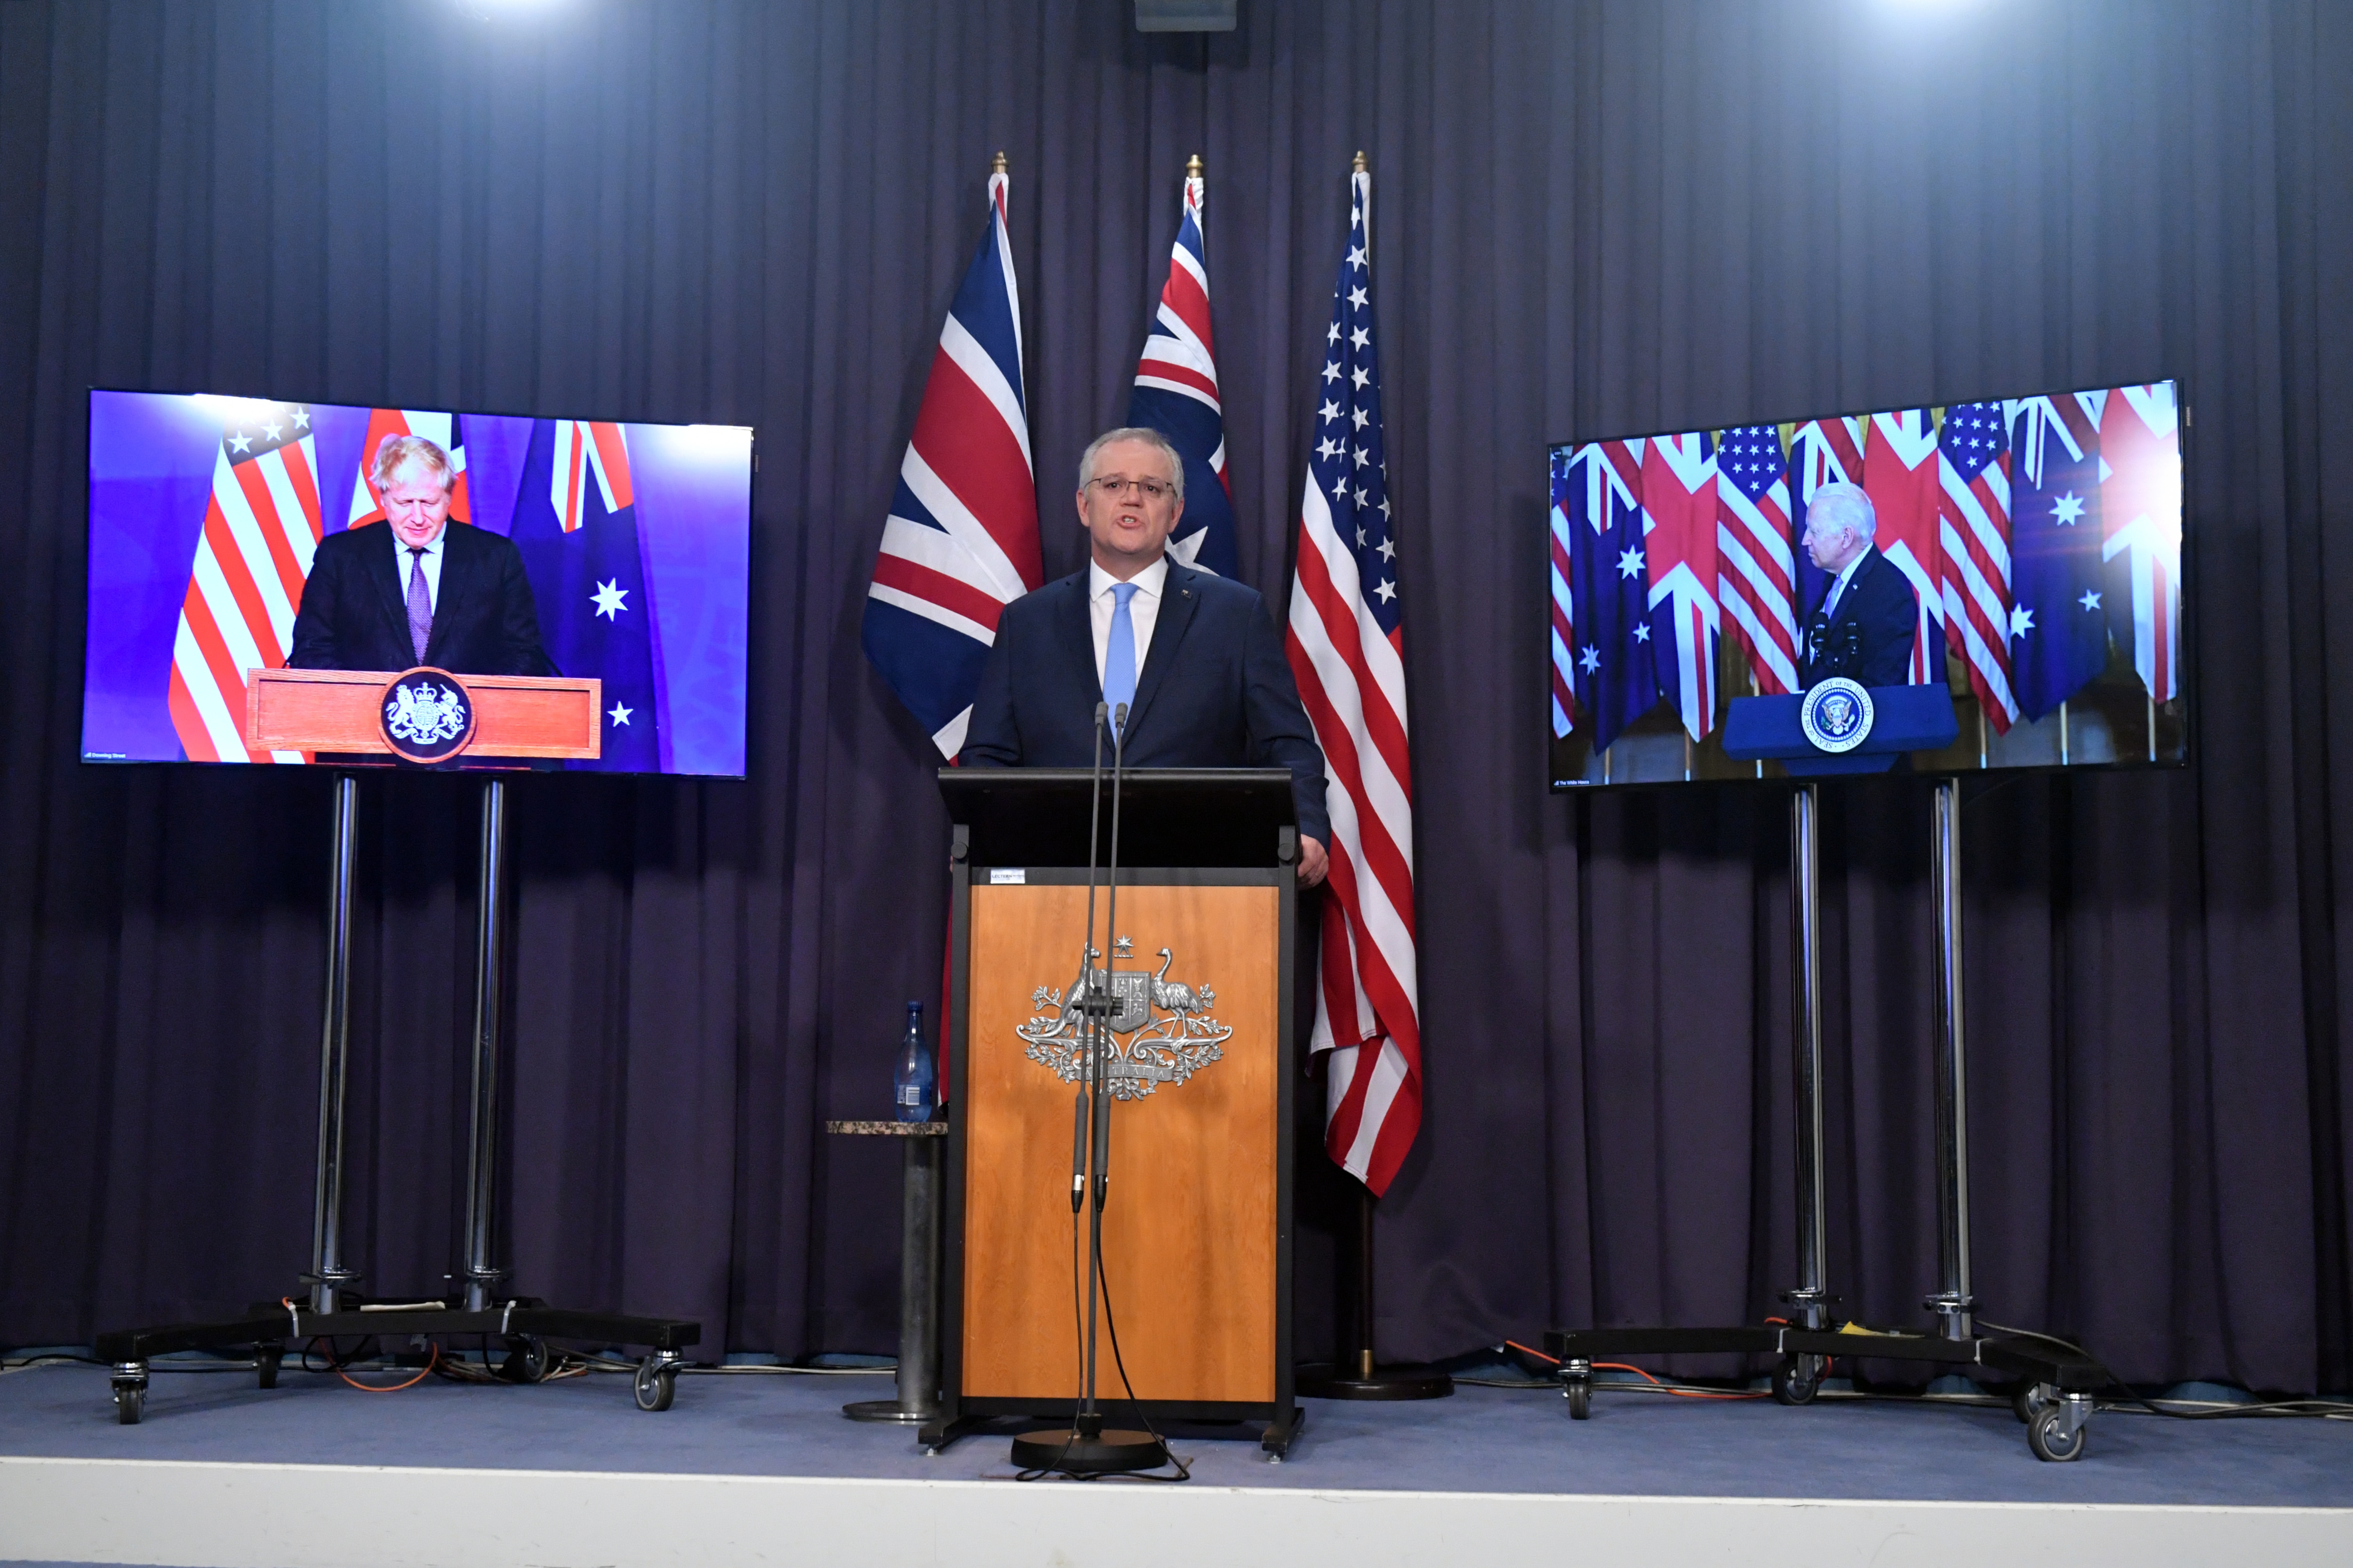
<path id="1" fill-rule="evenodd" d="M 1285 651 L 1332 785 L 1332 889 L 1311 1039 L 1329 1053 L 1325 1152 L 1379 1197 L 1421 1126 L 1421 1004 L 1398 541 L 1372 348 L 1372 176 L 1358 169 L 1348 197 Z"/>

